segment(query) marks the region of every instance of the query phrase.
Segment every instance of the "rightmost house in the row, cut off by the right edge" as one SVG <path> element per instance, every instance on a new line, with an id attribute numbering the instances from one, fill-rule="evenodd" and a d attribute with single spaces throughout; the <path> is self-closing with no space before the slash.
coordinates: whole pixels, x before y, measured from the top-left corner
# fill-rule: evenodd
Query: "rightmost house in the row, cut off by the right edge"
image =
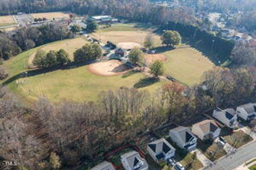
<path id="1" fill-rule="evenodd" d="M 256 119 L 256 104 L 249 103 L 236 108 L 236 113 L 245 121 Z"/>

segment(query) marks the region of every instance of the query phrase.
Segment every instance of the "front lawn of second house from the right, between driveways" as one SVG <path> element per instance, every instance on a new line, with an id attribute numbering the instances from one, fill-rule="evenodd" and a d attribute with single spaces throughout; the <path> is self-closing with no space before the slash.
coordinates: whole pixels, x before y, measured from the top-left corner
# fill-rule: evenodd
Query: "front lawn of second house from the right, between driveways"
<path id="1" fill-rule="evenodd" d="M 235 148 L 240 148 L 246 143 L 249 143 L 253 140 L 248 134 L 244 133 L 242 130 L 236 131 L 229 135 L 225 135 L 224 138 L 231 146 Z"/>

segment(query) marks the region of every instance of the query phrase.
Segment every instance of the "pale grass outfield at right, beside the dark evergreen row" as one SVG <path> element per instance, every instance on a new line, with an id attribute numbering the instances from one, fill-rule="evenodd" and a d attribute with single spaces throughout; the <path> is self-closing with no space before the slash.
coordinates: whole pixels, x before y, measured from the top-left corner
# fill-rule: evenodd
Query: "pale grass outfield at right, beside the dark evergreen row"
<path id="1" fill-rule="evenodd" d="M 187 85 L 199 83 L 203 73 L 214 66 L 207 57 L 191 47 L 170 50 L 164 55 L 168 58 L 164 62 L 165 74 Z"/>

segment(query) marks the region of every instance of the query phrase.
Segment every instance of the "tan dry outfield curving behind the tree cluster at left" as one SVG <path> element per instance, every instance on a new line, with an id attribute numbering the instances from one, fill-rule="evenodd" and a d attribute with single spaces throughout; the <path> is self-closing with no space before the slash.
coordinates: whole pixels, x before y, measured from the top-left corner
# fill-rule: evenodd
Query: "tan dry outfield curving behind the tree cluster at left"
<path id="1" fill-rule="evenodd" d="M 55 43 L 50 43 L 47 45 L 42 46 L 40 49 L 44 50 L 45 52 L 49 52 L 50 50 L 60 50 L 60 49 L 65 49 L 66 52 L 68 52 L 69 57 L 71 60 L 73 60 L 74 56 L 74 52 L 78 49 L 81 48 L 82 46 L 84 46 L 86 43 L 88 43 L 87 40 L 85 40 L 82 37 L 79 38 L 74 38 L 74 39 L 66 39 L 66 40 L 61 40 L 61 41 L 57 41 Z M 34 57 L 36 55 L 36 52 L 33 53 L 29 60 L 28 60 L 28 64 L 29 66 L 33 65 L 33 60 Z"/>

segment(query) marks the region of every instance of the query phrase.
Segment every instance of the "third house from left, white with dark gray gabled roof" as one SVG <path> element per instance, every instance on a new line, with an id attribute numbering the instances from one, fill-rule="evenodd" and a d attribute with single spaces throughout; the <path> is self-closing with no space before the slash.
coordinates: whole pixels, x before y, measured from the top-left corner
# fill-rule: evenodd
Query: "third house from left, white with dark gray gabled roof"
<path id="1" fill-rule="evenodd" d="M 176 149 L 162 138 L 148 143 L 147 150 L 148 154 L 155 160 L 155 162 L 160 162 L 173 157 Z"/>

